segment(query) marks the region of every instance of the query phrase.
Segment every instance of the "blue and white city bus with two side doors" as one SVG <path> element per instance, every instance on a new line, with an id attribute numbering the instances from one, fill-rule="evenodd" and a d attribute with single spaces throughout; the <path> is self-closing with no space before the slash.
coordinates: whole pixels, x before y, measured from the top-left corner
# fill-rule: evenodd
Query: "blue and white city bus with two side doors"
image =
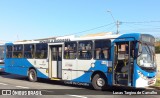
<path id="1" fill-rule="evenodd" d="M 155 38 L 127 33 L 76 38 L 57 37 L 5 44 L 5 71 L 28 76 L 88 83 L 94 89 L 156 82 Z"/>

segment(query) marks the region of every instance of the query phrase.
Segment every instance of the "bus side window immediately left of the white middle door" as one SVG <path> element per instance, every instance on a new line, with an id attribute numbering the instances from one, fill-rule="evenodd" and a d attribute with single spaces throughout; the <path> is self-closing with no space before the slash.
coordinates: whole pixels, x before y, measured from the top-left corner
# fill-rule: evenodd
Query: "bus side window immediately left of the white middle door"
<path id="1" fill-rule="evenodd" d="M 47 43 L 36 44 L 35 58 L 45 59 L 47 58 L 48 45 Z"/>

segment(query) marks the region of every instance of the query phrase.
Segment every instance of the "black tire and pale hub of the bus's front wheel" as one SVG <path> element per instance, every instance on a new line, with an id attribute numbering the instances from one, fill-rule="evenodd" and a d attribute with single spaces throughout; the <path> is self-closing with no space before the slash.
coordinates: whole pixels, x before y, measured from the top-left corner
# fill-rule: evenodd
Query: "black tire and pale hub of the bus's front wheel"
<path id="1" fill-rule="evenodd" d="M 95 74 L 92 78 L 92 87 L 96 90 L 107 88 L 107 79 L 102 74 Z"/>

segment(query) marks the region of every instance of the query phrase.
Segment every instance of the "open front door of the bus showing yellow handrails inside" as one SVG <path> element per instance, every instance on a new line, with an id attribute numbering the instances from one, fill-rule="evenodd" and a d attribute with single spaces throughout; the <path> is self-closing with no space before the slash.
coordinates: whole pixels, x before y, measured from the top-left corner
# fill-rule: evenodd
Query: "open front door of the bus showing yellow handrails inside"
<path id="1" fill-rule="evenodd" d="M 133 85 L 133 58 L 131 42 L 123 41 L 114 44 L 113 84 Z"/>

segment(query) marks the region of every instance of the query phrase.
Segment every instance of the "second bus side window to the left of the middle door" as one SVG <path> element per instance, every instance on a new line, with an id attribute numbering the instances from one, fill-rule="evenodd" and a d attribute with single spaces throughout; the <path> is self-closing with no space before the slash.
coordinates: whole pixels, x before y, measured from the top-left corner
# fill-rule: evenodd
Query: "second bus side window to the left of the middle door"
<path id="1" fill-rule="evenodd" d="M 34 58 L 34 45 L 25 44 L 24 45 L 24 57 L 25 58 Z"/>

